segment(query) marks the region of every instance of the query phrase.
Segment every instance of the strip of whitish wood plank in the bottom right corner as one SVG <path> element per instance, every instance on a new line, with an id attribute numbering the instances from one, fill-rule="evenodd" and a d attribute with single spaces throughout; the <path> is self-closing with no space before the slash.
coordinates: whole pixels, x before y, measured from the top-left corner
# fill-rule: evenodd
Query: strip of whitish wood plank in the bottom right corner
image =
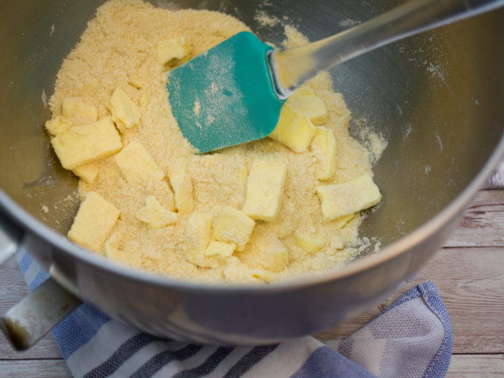
<path id="1" fill-rule="evenodd" d="M 496 378 L 504 376 L 504 354 L 451 356 L 447 378 Z"/>

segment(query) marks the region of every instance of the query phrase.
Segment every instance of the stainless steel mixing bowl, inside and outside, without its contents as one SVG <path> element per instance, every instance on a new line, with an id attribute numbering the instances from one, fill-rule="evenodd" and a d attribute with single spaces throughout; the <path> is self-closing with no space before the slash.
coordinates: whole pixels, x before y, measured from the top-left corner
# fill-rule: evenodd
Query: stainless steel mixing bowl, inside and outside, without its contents
<path id="1" fill-rule="evenodd" d="M 193 342 L 260 344 L 307 335 L 377 303 L 440 247 L 504 149 L 504 11 L 408 38 L 331 70 L 353 113 L 388 147 L 374 166 L 384 200 L 360 234 L 381 241 L 343 269 L 264 287 L 208 286 L 134 272 L 65 239 L 77 179 L 52 153 L 44 122 L 55 75 L 99 0 L 2 2 L 0 251 L 22 237 L 53 279 L 107 314 Z M 311 40 L 398 1 L 154 1 L 236 16 L 279 43 L 283 16 Z M 159 3 L 159 4 L 158 4 Z M 364 139 L 363 139 L 364 138 Z M 45 214 L 43 206 L 50 211 Z M 1 300 L 1 298 L 0 298 Z"/>

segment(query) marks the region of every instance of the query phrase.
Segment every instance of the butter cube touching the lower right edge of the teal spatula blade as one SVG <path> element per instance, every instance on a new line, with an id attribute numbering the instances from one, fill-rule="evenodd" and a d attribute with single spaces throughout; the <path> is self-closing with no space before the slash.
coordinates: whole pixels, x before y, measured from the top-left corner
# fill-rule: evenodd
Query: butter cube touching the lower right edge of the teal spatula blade
<path id="1" fill-rule="evenodd" d="M 300 153 L 307 149 L 315 132 L 315 126 L 307 117 L 296 113 L 290 106 L 284 104 L 279 122 L 269 137 L 286 145 L 292 151 Z"/>

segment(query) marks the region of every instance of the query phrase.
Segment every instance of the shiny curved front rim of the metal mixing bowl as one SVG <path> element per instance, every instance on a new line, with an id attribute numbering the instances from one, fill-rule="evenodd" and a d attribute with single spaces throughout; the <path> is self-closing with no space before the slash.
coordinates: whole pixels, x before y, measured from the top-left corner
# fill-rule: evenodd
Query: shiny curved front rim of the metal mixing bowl
<path id="1" fill-rule="evenodd" d="M 292 291 L 307 286 L 323 285 L 331 281 L 344 279 L 351 275 L 359 274 L 367 269 L 372 269 L 388 260 L 391 260 L 398 255 L 404 253 L 409 248 L 414 247 L 421 240 L 433 235 L 437 230 L 447 225 L 454 217 L 456 217 L 465 206 L 468 205 L 477 190 L 482 186 L 484 181 L 488 179 L 491 170 L 496 166 L 498 160 L 504 155 L 504 134 L 500 137 L 495 150 L 491 154 L 489 160 L 486 161 L 483 168 L 475 176 L 464 190 L 454 198 L 442 211 L 436 214 L 429 221 L 421 225 L 416 230 L 393 241 L 393 243 L 384 246 L 379 252 L 372 253 L 364 258 L 358 258 L 348 262 L 341 269 L 336 269 L 334 272 L 324 272 L 318 276 L 300 276 L 292 280 L 285 280 L 270 283 L 268 285 L 234 285 L 228 283 L 205 283 L 205 282 L 190 282 L 180 279 L 174 279 L 169 276 L 156 275 L 140 270 L 131 269 L 106 258 L 87 251 L 85 248 L 73 244 L 69 239 L 62 236 L 55 230 L 52 230 L 47 225 L 38 221 L 34 216 L 29 214 L 25 209 L 15 203 L 6 193 L 0 188 L 0 208 L 10 215 L 15 221 L 25 228 L 34 232 L 35 235 L 41 237 L 49 244 L 56 246 L 62 251 L 69 253 L 73 258 L 92 265 L 99 269 L 104 269 L 110 274 L 123 276 L 139 283 L 147 283 L 152 286 L 160 286 L 162 288 L 180 290 L 180 291 L 197 291 L 199 293 L 212 293 L 212 294 L 229 294 L 239 292 L 241 294 L 265 294 L 276 293 L 279 291 Z M 34 258 L 37 258 L 35 255 Z"/>

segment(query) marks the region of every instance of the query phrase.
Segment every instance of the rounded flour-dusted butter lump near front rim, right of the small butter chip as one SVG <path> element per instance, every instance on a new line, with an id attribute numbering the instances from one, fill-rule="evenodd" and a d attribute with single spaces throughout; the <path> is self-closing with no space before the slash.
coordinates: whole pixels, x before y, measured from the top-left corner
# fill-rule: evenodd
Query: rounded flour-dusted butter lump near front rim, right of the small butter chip
<path id="1" fill-rule="evenodd" d="M 254 239 L 249 253 L 253 256 L 253 267 L 269 272 L 278 273 L 288 265 L 288 249 L 276 237 Z"/>

